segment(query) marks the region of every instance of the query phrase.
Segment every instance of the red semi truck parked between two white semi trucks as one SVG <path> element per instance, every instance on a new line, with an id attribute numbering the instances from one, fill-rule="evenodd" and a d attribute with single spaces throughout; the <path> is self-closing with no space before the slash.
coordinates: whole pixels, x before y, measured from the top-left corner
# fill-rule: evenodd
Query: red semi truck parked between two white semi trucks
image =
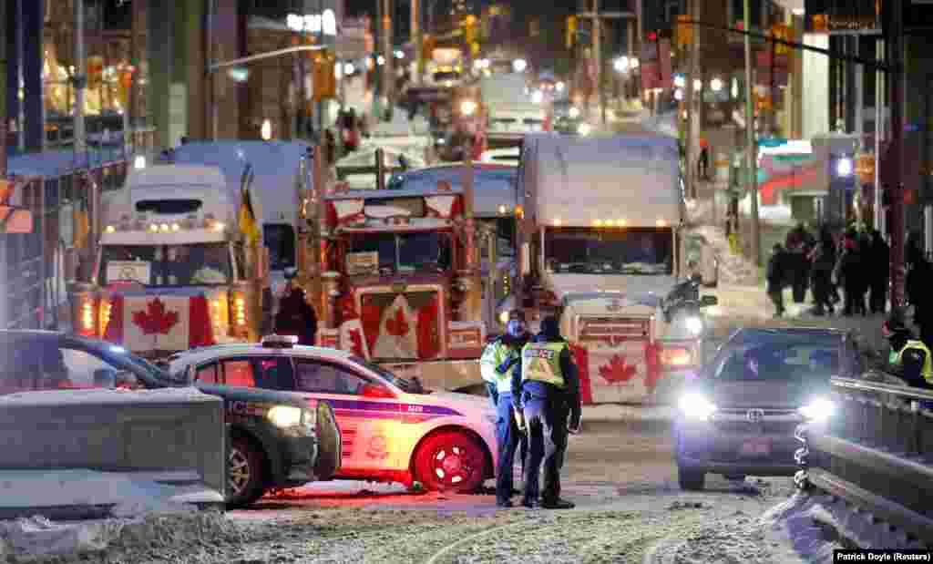
<path id="1" fill-rule="evenodd" d="M 486 325 L 471 183 L 338 184 L 318 209 L 319 344 L 426 388 L 480 386 Z"/>

